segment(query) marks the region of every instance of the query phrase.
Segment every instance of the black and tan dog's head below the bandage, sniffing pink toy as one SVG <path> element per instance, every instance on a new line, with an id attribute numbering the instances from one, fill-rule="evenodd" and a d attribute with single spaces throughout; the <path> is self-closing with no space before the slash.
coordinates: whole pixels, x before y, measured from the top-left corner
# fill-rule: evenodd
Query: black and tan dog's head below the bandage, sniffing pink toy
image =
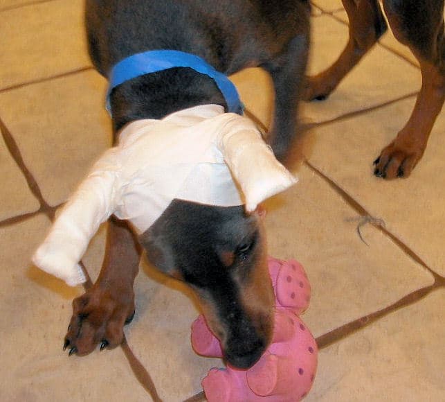
<path id="1" fill-rule="evenodd" d="M 196 292 L 226 360 L 251 367 L 273 331 L 273 290 L 259 213 L 174 200 L 140 243 L 153 265 Z"/>

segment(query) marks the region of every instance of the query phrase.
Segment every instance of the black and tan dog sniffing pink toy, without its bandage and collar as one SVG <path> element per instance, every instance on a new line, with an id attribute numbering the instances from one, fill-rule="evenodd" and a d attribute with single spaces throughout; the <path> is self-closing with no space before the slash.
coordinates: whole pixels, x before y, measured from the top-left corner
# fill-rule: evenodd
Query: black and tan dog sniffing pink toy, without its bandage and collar
<path id="1" fill-rule="evenodd" d="M 136 53 L 171 49 L 203 58 L 226 75 L 245 67 L 269 71 L 275 85 L 270 144 L 282 161 L 296 135 L 296 110 L 309 45 L 308 0 L 87 0 L 89 53 L 105 77 Z M 226 100 L 214 80 L 187 67 L 145 74 L 110 94 L 115 141 L 138 119 Z M 159 270 L 197 293 L 228 362 L 250 367 L 271 340 L 273 293 L 260 213 L 174 200 L 139 238 L 127 222 L 109 221 L 98 280 L 73 301 L 64 348 L 84 355 L 116 347 L 135 311 L 140 245 Z"/>

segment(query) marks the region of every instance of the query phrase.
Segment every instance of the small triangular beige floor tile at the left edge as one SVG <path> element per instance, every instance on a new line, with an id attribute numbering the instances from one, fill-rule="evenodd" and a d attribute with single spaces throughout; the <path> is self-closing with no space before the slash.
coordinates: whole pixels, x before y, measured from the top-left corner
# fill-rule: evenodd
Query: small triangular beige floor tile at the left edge
<path id="1" fill-rule="evenodd" d="M 10 156 L 3 138 L 0 138 L 0 171 L 0 220 L 37 211 L 39 202 L 30 192 L 25 177 Z"/>

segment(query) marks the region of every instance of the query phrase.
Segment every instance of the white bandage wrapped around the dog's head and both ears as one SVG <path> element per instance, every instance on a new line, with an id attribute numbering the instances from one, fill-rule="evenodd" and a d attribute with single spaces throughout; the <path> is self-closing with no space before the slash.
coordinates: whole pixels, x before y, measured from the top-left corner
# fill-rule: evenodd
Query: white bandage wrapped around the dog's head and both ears
<path id="1" fill-rule="evenodd" d="M 85 281 L 89 241 L 113 213 L 143 233 L 175 198 L 251 212 L 296 181 L 254 123 L 219 105 L 134 121 L 71 195 L 33 262 L 75 286 Z"/>

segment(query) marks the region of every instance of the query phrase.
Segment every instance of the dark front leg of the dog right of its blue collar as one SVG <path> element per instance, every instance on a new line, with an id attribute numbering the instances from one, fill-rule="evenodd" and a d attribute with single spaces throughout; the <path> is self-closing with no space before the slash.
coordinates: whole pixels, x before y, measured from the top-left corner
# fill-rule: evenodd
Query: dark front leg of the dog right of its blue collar
<path id="1" fill-rule="evenodd" d="M 309 37 L 298 35 L 291 40 L 284 53 L 263 64 L 271 74 L 275 87 L 275 116 L 271 140 L 275 157 L 286 163 L 289 151 L 297 135 L 297 110 L 304 81 Z"/>

